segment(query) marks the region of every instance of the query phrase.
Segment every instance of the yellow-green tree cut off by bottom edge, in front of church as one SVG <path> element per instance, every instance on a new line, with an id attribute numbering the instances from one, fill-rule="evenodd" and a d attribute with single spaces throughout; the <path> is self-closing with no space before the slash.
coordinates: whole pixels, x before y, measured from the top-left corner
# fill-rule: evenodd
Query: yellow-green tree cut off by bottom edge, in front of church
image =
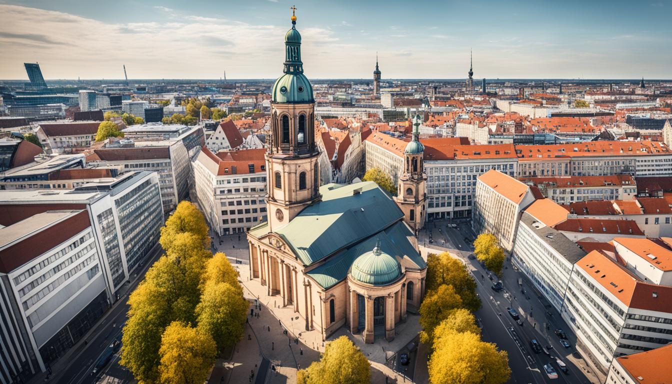
<path id="1" fill-rule="evenodd" d="M 319 361 L 296 375 L 297 384 L 368 384 L 369 360 L 347 336 L 329 342 Z"/>

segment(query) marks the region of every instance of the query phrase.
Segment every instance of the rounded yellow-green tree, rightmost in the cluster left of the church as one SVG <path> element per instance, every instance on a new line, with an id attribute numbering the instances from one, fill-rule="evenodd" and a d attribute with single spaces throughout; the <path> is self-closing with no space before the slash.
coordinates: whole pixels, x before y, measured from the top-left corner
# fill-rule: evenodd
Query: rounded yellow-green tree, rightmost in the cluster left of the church
<path id="1" fill-rule="evenodd" d="M 198 328 L 212 336 L 220 350 L 233 346 L 243 337 L 248 308 L 238 282 L 208 282 L 196 307 Z"/>

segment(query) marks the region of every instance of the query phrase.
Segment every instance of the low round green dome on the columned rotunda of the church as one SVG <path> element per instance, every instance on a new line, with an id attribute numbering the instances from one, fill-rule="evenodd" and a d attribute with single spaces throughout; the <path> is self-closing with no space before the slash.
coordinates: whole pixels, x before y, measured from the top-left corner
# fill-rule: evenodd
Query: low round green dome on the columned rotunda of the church
<path id="1" fill-rule="evenodd" d="M 372 251 L 355 259 L 350 267 L 350 276 L 365 284 L 386 285 L 401 276 L 401 264 L 382 252 L 378 241 Z"/>

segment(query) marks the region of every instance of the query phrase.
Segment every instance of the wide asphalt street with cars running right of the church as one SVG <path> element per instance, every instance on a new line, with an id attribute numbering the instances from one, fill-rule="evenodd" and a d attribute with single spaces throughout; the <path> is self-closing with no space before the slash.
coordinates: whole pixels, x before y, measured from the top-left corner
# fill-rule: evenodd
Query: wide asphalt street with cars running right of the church
<path id="1" fill-rule="evenodd" d="M 562 321 L 560 314 L 554 309 L 544 307 L 548 305 L 543 297 L 537 295 L 531 284 L 528 284 L 523 274 L 515 271 L 511 262 L 505 262 L 503 273 L 504 290 L 497 293 L 491 289 L 497 277 L 493 274 L 493 281 L 489 279 L 489 272 L 478 260 L 469 260 L 467 256 L 473 252 L 472 241 L 476 237 L 468 222 L 456 223 L 450 227 L 447 222 L 429 223 L 427 232 L 422 231 L 420 243 L 427 243 L 428 247 L 444 248 L 457 254 L 468 266 L 477 282 L 476 292 L 480 295 L 482 307 L 476 311 L 476 317 L 482 328 L 482 338 L 487 342 L 494 342 L 497 346 L 509 353 L 509 367 L 512 375 L 509 383 L 597 383 L 593 375 L 585 374 L 585 362 L 573 356 L 575 352 L 575 336 L 569 332 L 569 327 Z M 429 233 L 433 243 L 429 243 Z M 481 277 L 482 276 L 482 277 Z M 523 279 L 523 285 L 518 285 L 518 278 Z M 526 295 L 521 293 L 526 289 Z M 529 299 L 528 299 L 529 298 Z M 522 321 L 518 325 L 507 312 L 513 308 Z M 552 315 L 548 315 L 550 311 Z M 548 332 L 544 332 L 544 323 L 549 324 Z M 556 328 L 566 332 L 570 348 L 563 348 L 558 337 L 553 334 Z M 530 348 L 530 341 L 538 340 L 542 346 L 552 346 L 550 356 L 559 356 L 569 369 L 569 374 L 562 373 L 558 364 L 544 353 L 535 354 Z M 558 375 L 558 379 L 550 379 L 545 371 L 544 364 L 550 363 Z"/>

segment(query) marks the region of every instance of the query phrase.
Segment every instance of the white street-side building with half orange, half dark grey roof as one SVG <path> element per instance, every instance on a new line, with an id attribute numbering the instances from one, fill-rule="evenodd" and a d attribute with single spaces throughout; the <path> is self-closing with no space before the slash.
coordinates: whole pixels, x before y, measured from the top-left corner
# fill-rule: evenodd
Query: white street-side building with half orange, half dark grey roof
<path id="1" fill-rule="evenodd" d="M 567 211 L 548 198 L 536 200 L 523 212 L 511 261 L 555 309 L 562 309 L 564 292 L 575 262 L 586 252 L 553 228 Z"/>

